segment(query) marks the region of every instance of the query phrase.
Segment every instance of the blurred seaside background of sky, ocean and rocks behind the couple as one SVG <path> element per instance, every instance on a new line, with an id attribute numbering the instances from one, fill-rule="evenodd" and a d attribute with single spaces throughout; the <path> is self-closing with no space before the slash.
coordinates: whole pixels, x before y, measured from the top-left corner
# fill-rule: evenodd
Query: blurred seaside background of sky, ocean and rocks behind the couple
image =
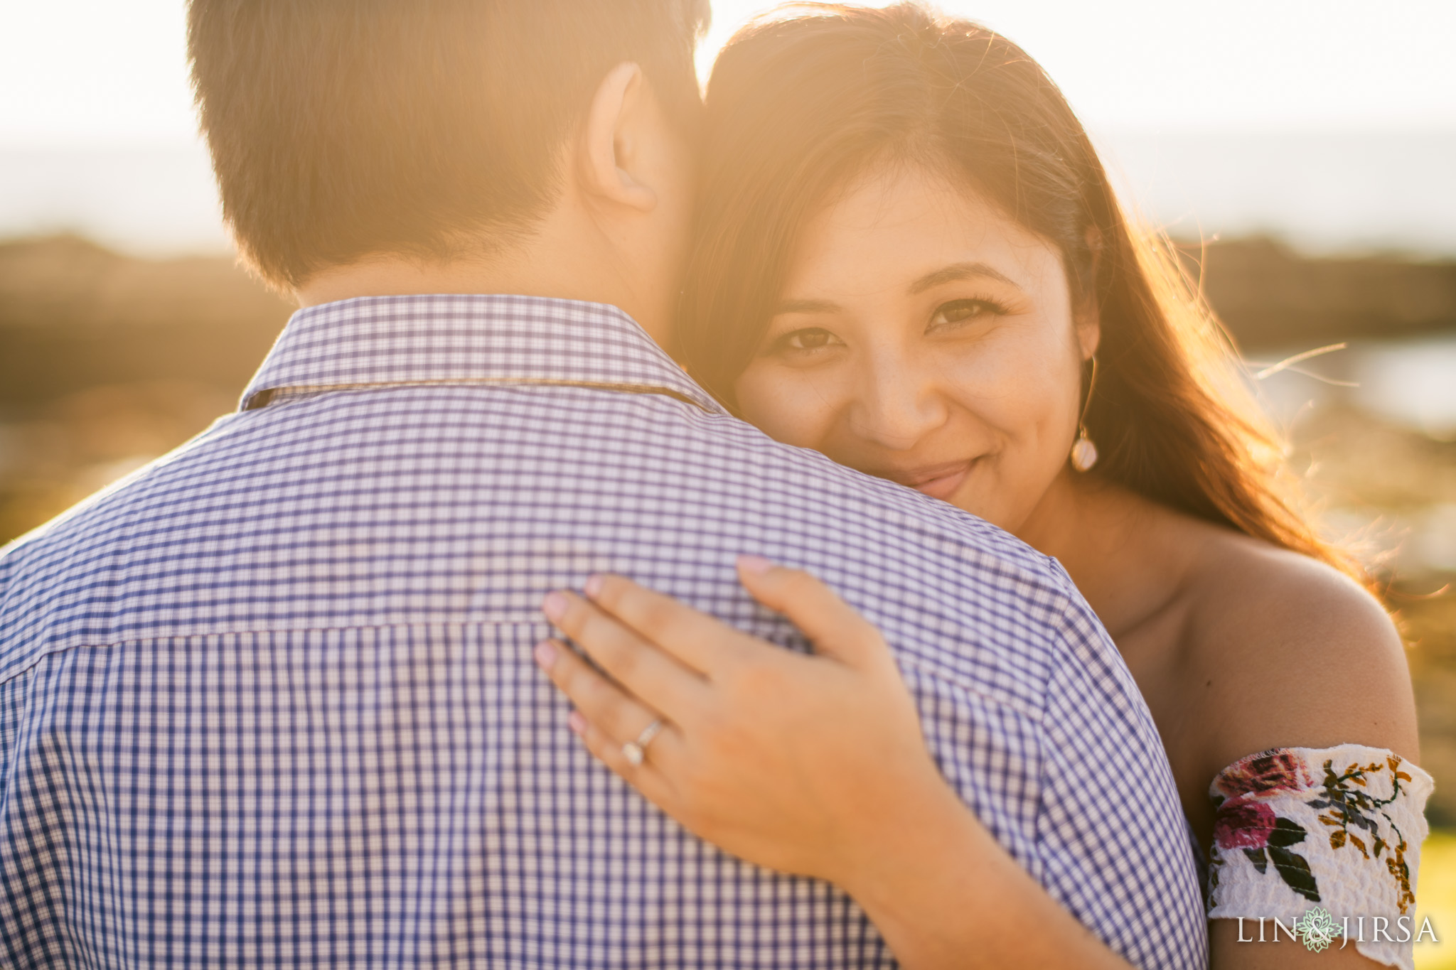
<path id="1" fill-rule="evenodd" d="M 767 6 L 713 1 L 705 77 Z M 1437 779 L 1421 905 L 1456 938 L 1456 4 L 939 6 L 1061 84 L 1379 564 Z M 183 45 L 182 0 L 0 3 L 0 542 L 232 410 L 291 313 L 234 265 Z"/>

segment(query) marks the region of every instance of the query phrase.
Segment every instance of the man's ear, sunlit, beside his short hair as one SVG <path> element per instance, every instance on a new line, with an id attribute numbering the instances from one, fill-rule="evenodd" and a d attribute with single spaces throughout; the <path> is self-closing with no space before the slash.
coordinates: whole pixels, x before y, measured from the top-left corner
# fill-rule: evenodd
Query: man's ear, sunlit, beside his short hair
<path id="1" fill-rule="evenodd" d="M 636 64 L 617 64 L 597 86 L 577 166 L 590 198 L 642 212 L 657 207 L 657 192 L 633 176 L 651 137 L 651 97 Z"/>

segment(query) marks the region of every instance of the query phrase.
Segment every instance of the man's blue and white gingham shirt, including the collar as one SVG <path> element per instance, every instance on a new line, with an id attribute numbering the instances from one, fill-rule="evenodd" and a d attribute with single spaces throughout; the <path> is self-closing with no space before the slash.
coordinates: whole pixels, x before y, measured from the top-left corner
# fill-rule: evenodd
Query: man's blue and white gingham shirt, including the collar
<path id="1" fill-rule="evenodd" d="M 1051 560 L 767 439 L 596 304 L 304 310 L 245 404 L 0 554 L 0 964 L 891 966 L 594 763 L 530 660 L 594 570 L 804 649 L 735 582 L 759 553 L 884 630 L 1057 900 L 1206 966 L 1158 734 Z"/>

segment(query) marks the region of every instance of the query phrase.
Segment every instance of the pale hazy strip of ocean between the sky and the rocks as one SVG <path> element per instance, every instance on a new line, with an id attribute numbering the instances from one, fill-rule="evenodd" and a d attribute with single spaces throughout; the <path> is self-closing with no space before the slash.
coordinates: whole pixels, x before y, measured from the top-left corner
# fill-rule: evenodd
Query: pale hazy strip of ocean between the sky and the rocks
<path id="1" fill-rule="evenodd" d="M 1124 205 L 1179 240 L 1456 257 L 1456 128 L 1093 129 Z M 0 239 L 71 233 L 141 256 L 227 253 L 195 143 L 0 145 Z"/>

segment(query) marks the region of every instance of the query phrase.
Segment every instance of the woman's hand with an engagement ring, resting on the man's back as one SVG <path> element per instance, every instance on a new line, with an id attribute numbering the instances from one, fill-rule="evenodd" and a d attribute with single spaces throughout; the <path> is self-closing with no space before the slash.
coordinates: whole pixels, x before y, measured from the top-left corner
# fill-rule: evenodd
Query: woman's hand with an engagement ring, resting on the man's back
<path id="1" fill-rule="evenodd" d="M 543 609 L 600 665 L 559 641 L 539 663 L 577 711 L 593 755 L 696 835 L 734 855 L 846 889 L 877 846 L 958 800 L 879 633 L 808 573 L 743 557 L 753 596 L 812 641 L 805 656 L 764 643 L 620 576 Z M 662 721 L 632 763 L 623 745 Z"/>

